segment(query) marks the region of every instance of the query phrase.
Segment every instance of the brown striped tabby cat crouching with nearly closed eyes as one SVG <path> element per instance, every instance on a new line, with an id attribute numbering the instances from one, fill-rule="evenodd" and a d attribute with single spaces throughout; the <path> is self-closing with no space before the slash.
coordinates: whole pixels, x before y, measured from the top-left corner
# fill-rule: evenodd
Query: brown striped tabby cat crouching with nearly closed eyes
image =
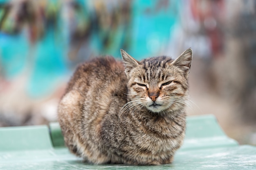
<path id="1" fill-rule="evenodd" d="M 136 61 L 121 50 L 81 64 L 58 106 L 65 144 L 94 164 L 171 163 L 183 143 L 193 52 Z"/>

